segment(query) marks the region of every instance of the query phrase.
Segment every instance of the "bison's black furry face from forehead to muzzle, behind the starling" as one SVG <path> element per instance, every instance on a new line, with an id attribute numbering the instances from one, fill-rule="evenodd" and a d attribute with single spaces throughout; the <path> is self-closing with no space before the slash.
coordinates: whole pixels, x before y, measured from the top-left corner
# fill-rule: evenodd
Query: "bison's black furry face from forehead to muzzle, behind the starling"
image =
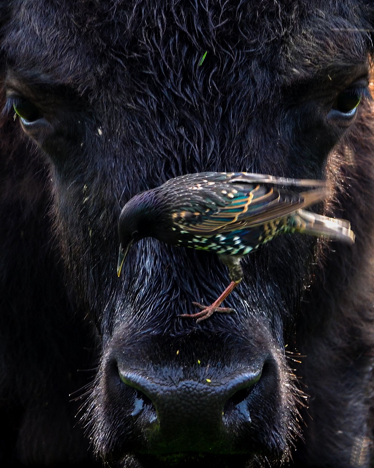
<path id="1" fill-rule="evenodd" d="M 235 3 L 29 1 L 3 29 L 7 110 L 50 167 L 66 274 L 102 336 L 86 421 L 107 461 L 286 460 L 299 435 L 284 348 L 316 240 L 248 256 L 236 313 L 198 325 L 179 315 L 228 284 L 215 256 L 143 240 L 116 276 L 119 213 L 142 190 L 207 170 L 336 189 L 352 164 L 338 145 L 367 106 L 366 2 Z"/>

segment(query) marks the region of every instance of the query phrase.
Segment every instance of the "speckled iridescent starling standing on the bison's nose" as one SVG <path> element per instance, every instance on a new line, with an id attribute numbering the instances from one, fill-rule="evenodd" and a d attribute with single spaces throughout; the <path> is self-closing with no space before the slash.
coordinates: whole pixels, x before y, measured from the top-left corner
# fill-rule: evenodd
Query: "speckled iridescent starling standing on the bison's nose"
<path id="1" fill-rule="evenodd" d="M 313 188 L 301 193 L 282 187 Z M 242 280 L 240 260 L 278 234 L 325 235 L 354 242 L 350 223 L 303 208 L 328 197 L 326 183 L 320 180 L 246 172 L 203 172 L 176 177 L 163 185 L 131 198 L 123 207 L 118 232 L 120 251 L 117 274 L 134 242 L 154 237 L 180 247 L 215 252 L 227 265 L 230 285 L 219 298 L 196 314 L 182 317 L 207 319 L 214 312 L 232 312 L 220 307 L 222 301 Z"/>

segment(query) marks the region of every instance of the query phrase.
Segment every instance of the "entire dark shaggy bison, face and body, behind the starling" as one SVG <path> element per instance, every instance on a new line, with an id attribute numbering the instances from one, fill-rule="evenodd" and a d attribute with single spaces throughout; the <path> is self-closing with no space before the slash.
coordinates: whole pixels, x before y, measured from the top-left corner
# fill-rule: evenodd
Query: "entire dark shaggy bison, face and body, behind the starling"
<path id="1" fill-rule="evenodd" d="M 372 103 L 330 111 L 367 88 L 371 3 L 9 0 L 0 24 L 4 461 L 90 463 L 91 441 L 126 467 L 371 466 Z M 148 240 L 118 280 L 116 224 L 207 170 L 326 177 L 316 209 L 356 243 L 274 239 L 243 262 L 236 314 L 180 319 L 227 271 Z"/>

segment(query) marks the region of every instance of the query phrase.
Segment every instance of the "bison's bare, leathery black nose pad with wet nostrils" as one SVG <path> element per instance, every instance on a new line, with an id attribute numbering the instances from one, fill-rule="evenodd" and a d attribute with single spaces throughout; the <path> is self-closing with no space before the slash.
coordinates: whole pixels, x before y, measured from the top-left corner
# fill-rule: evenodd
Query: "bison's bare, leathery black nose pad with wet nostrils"
<path id="1" fill-rule="evenodd" d="M 136 389 L 131 416 L 152 453 L 222 453 L 224 446 L 232 449 L 233 435 L 251 424 L 250 397 L 262 370 L 174 381 L 166 371 L 162 380 L 134 371 L 119 373 L 126 386 Z"/>

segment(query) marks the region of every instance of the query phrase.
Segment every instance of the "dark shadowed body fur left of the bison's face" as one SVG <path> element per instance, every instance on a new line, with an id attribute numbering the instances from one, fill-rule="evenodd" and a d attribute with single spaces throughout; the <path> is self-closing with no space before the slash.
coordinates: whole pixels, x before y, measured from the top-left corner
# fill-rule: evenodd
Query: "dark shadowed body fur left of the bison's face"
<path id="1" fill-rule="evenodd" d="M 74 464 L 93 458 L 72 399 L 94 374 L 94 332 L 63 279 L 47 172 L 18 127 L 0 124 L 0 464 Z"/>

